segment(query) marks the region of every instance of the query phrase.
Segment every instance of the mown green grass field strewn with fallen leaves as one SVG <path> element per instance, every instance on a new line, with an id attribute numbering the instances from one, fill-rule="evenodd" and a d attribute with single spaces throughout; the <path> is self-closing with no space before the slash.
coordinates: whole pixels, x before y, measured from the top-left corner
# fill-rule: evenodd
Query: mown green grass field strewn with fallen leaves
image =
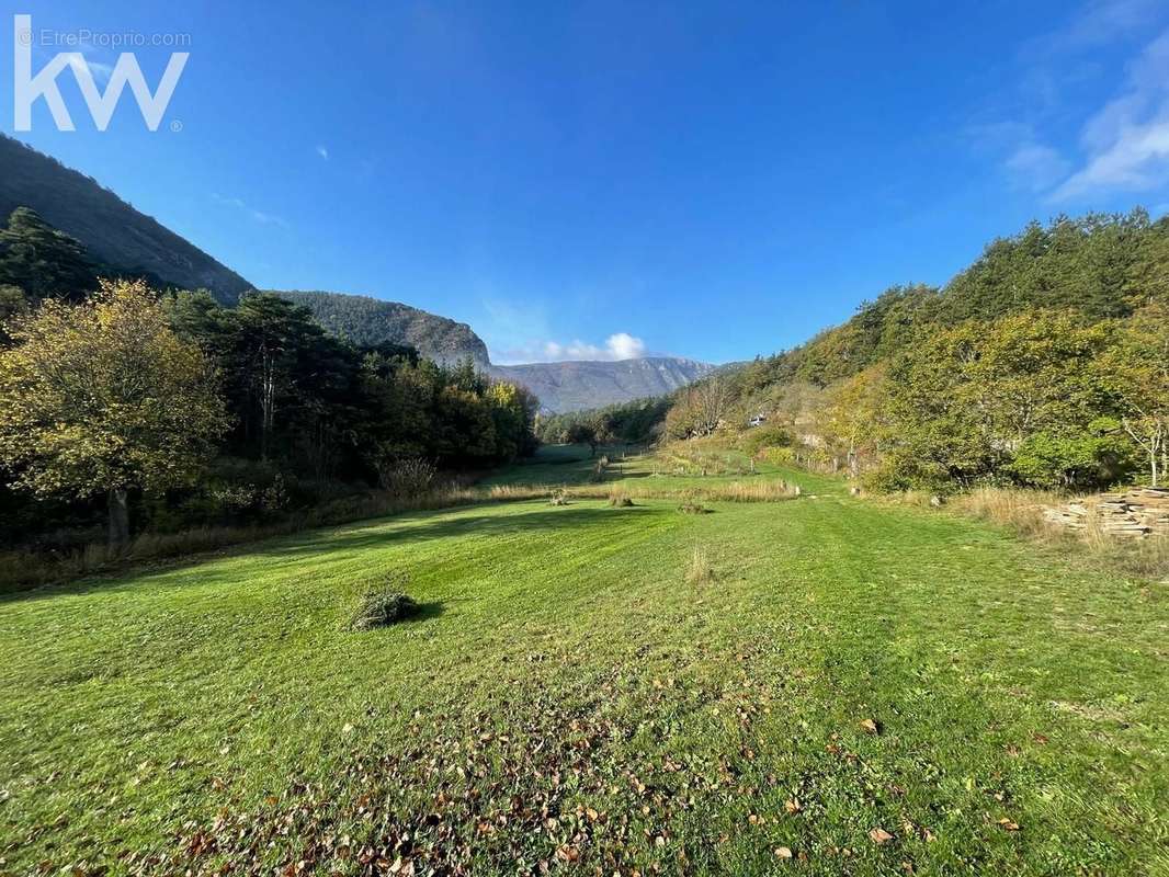
<path id="1" fill-rule="evenodd" d="M 0 599 L 0 873 L 1169 872 L 1164 585 L 783 476 Z M 420 617 L 345 630 L 390 569 Z"/>

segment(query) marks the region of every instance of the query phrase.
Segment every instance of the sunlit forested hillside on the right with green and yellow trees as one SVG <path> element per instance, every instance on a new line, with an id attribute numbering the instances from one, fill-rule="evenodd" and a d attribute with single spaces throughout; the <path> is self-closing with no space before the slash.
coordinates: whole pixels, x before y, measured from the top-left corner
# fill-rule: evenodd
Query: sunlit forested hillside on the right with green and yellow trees
<path id="1" fill-rule="evenodd" d="M 807 344 L 680 393 L 665 428 L 753 417 L 767 420 L 754 444 L 886 488 L 1163 481 L 1169 219 L 1031 223 L 941 289 L 893 286 Z"/>

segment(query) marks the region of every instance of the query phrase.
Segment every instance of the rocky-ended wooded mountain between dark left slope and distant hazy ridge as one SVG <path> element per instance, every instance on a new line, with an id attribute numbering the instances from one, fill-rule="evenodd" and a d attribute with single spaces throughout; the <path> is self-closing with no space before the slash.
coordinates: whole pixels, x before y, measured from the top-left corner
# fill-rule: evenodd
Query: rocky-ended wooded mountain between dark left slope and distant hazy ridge
<path id="1" fill-rule="evenodd" d="M 487 368 L 487 345 L 465 323 L 456 323 L 400 302 L 382 302 L 343 292 L 271 290 L 281 298 L 312 311 L 325 329 L 354 344 L 406 344 L 428 359 L 454 365 L 470 357 Z"/>

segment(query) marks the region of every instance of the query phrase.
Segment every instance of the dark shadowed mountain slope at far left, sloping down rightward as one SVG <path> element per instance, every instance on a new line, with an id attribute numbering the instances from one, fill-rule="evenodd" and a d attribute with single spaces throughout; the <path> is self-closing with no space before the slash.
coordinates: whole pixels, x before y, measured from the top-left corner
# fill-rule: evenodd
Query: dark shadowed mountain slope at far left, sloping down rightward
<path id="1" fill-rule="evenodd" d="M 181 289 L 207 289 L 235 304 L 251 284 L 139 213 L 96 180 L 0 134 L 0 223 L 18 207 L 81 241 L 105 264 L 150 274 Z"/>

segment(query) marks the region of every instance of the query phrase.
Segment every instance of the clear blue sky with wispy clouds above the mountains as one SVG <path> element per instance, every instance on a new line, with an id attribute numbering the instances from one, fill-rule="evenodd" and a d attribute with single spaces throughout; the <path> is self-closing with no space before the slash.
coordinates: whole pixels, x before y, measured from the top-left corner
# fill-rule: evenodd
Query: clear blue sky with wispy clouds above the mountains
<path id="1" fill-rule="evenodd" d="M 497 361 L 726 361 L 1032 217 L 1169 210 L 1169 4 L 957 6 L 0 0 L 0 123 L 14 13 L 186 34 L 157 132 L 129 90 L 97 131 L 65 71 L 77 131 L 40 101 L 19 137 L 258 286 L 407 302 Z M 136 49 L 151 87 L 170 51 Z"/>

